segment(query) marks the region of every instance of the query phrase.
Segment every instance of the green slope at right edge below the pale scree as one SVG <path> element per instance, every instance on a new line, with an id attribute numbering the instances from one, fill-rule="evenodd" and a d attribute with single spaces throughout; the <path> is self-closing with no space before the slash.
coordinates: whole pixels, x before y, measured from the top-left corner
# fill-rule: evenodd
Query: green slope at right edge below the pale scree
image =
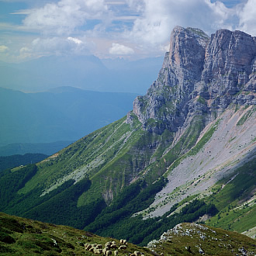
<path id="1" fill-rule="evenodd" d="M 256 160 L 237 169 L 233 175 L 213 187 L 213 202 L 220 213 L 206 223 L 209 226 L 244 232 L 256 225 Z"/>

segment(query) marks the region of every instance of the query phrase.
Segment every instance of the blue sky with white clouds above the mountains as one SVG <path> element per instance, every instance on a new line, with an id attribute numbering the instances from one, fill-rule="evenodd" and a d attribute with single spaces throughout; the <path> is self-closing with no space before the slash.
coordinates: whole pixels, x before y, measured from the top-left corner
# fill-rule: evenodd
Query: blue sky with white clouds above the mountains
<path id="1" fill-rule="evenodd" d="M 256 0 L 0 0 L 0 61 L 164 55 L 175 26 L 256 35 Z"/>

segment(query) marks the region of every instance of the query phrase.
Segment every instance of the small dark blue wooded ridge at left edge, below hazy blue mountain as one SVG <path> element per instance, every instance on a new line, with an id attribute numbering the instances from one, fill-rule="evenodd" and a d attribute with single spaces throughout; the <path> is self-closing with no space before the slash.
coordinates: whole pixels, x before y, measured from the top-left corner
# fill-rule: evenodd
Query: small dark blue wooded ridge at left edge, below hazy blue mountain
<path id="1" fill-rule="evenodd" d="M 0 171 L 15 168 L 20 165 L 35 164 L 47 158 L 46 154 L 14 154 L 8 157 L 0 157 Z M 0 173 L 1 175 L 1 173 Z"/>

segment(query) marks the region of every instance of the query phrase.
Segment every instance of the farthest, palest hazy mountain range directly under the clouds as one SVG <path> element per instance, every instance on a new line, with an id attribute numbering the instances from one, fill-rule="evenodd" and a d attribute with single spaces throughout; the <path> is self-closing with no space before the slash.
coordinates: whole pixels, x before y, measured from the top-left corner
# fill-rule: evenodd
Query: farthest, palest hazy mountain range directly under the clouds
<path id="1" fill-rule="evenodd" d="M 19 64 L 1 62 L 0 86 L 29 92 L 74 86 L 100 92 L 144 94 L 156 78 L 161 61 L 162 57 L 101 61 L 95 56 L 50 56 Z"/>

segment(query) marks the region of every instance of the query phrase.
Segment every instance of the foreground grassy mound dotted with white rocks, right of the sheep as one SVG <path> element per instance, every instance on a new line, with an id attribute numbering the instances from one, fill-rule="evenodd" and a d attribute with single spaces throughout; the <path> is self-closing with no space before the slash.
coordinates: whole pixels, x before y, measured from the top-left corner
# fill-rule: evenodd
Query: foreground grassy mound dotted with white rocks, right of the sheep
<path id="1" fill-rule="evenodd" d="M 147 246 L 158 255 L 161 253 L 161 248 L 164 248 L 164 255 L 255 254 L 253 246 L 247 247 L 243 242 L 237 243 L 238 239 L 247 240 L 247 237 L 227 230 L 223 233 L 223 230 L 196 223 L 181 223 L 164 232 L 160 240 L 150 241 Z"/>

